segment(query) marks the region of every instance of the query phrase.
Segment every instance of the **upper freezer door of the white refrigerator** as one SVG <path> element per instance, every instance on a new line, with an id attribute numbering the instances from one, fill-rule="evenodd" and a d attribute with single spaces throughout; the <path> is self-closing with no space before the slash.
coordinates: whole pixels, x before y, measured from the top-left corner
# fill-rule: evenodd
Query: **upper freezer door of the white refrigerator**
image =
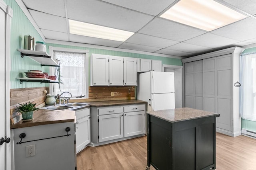
<path id="1" fill-rule="evenodd" d="M 174 72 L 151 72 L 151 93 L 174 93 Z"/>

